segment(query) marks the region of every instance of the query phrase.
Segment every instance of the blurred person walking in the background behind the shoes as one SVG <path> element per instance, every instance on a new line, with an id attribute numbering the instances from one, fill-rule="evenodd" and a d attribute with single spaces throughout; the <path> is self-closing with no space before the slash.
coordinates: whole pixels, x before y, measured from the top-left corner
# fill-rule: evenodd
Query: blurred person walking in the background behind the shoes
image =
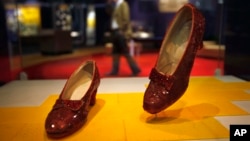
<path id="1" fill-rule="evenodd" d="M 130 25 L 130 9 L 124 0 L 112 0 L 113 6 L 111 13 L 111 43 L 112 46 L 112 70 L 107 75 L 117 75 L 119 72 L 120 57 L 124 56 L 132 71 L 132 76 L 137 76 L 141 70 L 134 58 L 129 54 L 127 43 L 132 37 L 132 28 Z"/>

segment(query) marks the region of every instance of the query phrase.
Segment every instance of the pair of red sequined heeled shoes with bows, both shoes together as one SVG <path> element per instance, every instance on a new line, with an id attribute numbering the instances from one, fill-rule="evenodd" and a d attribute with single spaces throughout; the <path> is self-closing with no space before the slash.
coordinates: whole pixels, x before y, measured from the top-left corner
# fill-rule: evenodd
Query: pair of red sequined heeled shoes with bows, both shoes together
<path id="1" fill-rule="evenodd" d="M 191 4 L 172 20 L 145 91 L 143 108 L 156 114 L 175 103 L 186 91 L 198 49 L 202 48 L 205 20 Z M 47 135 L 62 138 L 80 129 L 95 104 L 100 75 L 94 61 L 83 63 L 67 80 L 45 121 Z"/>

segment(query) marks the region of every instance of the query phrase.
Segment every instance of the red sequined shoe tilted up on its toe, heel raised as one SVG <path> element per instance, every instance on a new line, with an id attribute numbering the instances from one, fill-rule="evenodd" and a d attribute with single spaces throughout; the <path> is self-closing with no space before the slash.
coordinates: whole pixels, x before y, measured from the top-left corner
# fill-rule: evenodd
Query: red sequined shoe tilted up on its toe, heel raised
<path id="1" fill-rule="evenodd" d="M 143 99 L 145 111 L 151 114 L 163 111 L 184 94 L 196 52 L 203 47 L 204 25 L 204 17 L 191 4 L 176 13 L 149 75 Z"/>

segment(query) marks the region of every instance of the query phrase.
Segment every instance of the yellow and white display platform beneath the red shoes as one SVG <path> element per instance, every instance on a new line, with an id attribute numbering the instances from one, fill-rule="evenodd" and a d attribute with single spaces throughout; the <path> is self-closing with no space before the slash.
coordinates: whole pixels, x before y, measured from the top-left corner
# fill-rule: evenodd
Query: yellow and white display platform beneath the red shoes
<path id="1" fill-rule="evenodd" d="M 51 140 L 44 121 L 66 80 L 13 81 L 0 87 L 0 140 Z M 250 82 L 233 76 L 191 77 L 165 111 L 142 108 L 148 78 L 102 78 L 86 124 L 62 140 L 228 141 L 230 124 L 250 124 Z"/>

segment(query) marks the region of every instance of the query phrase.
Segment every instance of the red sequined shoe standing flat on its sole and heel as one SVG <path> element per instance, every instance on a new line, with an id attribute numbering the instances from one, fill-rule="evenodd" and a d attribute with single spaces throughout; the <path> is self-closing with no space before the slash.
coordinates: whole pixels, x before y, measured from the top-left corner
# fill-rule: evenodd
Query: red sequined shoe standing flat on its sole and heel
<path id="1" fill-rule="evenodd" d="M 94 61 L 83 63 L 67 80 L 49 112 L 45 129 L 48 137 L 62 138 L 80 129 L 95 104 L 100 75 Z"/>

